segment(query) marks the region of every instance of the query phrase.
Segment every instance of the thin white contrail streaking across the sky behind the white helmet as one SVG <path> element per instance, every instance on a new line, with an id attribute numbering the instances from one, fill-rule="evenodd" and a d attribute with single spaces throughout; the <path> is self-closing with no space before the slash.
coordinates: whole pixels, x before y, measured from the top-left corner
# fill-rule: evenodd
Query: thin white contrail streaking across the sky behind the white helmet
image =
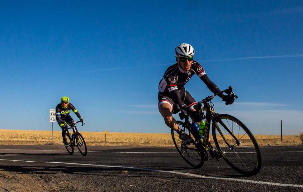
<path id="1" fill-rule="evenodd" d="M 216 60 L 204 60 L 204 61 L 197 61 L 197 62 L 220 62 L 220 61 L 237 61 L 237 60 L 246 60 L 246 59 L 270 59 L 270 58 L 287 58 L 287 57 L 303 57 L 303 54 L 258 56 L 258 57 L 240 57 L 240 58 L 233 58 L 233 59 L 216 59 Z M 173 64 L 174 63 L 164 63 L 164 64 L 148 65 L 148 66 L 131 66 L 131 67 L 107 68 L 107 69 L 97 69 L 97 70 L 93 70 L 91 72 L 111 71 L 111 70 L 121 70 L 121 69 L 135 69 L 135 68 L 145 68 L 145 67 L 173 65 Z"/>

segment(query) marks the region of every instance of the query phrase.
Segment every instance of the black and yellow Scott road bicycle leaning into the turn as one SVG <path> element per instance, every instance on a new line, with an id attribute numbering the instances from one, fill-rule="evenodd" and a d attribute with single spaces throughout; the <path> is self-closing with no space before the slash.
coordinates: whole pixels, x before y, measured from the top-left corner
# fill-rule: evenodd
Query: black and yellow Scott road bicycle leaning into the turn
<path id="1" fill-rule="evenodd" d="M 190 135 L 193 140 L 188 144 L 184 144 L 179 139 L 178 133 L 172 130 L 173 143 L 189 165 L 194 168 L 202 167 L 204 161 L 209 159 L 207 150 L 210 147 L 208 140 L 212 121 L 213 141 L 226 163 L 243 175 L 255 175 L 261 169 L 259 145 L 250 130 L 237 118 L 228 114 L 215 113 L 211 100 L 220 93 L 227 93 L 238 99 L 238 96 L 234 94 L 233 88 L 230 86 L 224 91 L 206 97 L 195 106 L 197 113 L 203 119 L 206 119 L 204 138 L 201 139 L 199 134 L 193 132 L 191 125 L 194 122 L 191 122 L 186 111 L 181 110 L 179 113 L 180 119 L 185 119 L 185 121 L 177 121 L 177 123 L 180 129 Z M 180 109 L 178 104 L 177 107 Z M 204 111 L 206 111 L 206 115 L 204 115 Z"/>

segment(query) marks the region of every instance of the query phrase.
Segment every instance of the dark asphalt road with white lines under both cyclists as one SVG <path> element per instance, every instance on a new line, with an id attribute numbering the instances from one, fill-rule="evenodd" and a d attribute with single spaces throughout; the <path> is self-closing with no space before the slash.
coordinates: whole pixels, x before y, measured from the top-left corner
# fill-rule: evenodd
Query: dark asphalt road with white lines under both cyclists
<path id="1" fill-rule="evenodd" d="M 37 177 L 44 191 L 303 191 L 303 145 L 261 153 L 260 172 L 244 177 L 224 160 L 193 169 L 175 148 L 88 146 L 83 157 L 62 145 L 0 145 L 0 171 Z M 0 191 L 7 186 L 0 183 Z"/>

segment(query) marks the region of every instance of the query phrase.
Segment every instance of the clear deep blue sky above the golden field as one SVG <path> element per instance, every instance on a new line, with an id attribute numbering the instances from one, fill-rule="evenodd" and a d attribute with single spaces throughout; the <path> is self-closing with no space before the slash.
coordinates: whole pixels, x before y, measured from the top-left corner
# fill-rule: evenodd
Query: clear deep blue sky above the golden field
<path id="1" fill-rule="evenodd" d="M 216 112 L 254 134 L 280 134 L 280 120 L 285 134 L 303 131 L 302 1 L 16 1 L 0 17 L 2 129 L 50 130 L 49 109 L 69 96 L 82 131 L 167 133 L 158 83 L 187 42 L 239 96 L 214 99 Z M 211 95 L 197 76 L 186 88 Z"/>

